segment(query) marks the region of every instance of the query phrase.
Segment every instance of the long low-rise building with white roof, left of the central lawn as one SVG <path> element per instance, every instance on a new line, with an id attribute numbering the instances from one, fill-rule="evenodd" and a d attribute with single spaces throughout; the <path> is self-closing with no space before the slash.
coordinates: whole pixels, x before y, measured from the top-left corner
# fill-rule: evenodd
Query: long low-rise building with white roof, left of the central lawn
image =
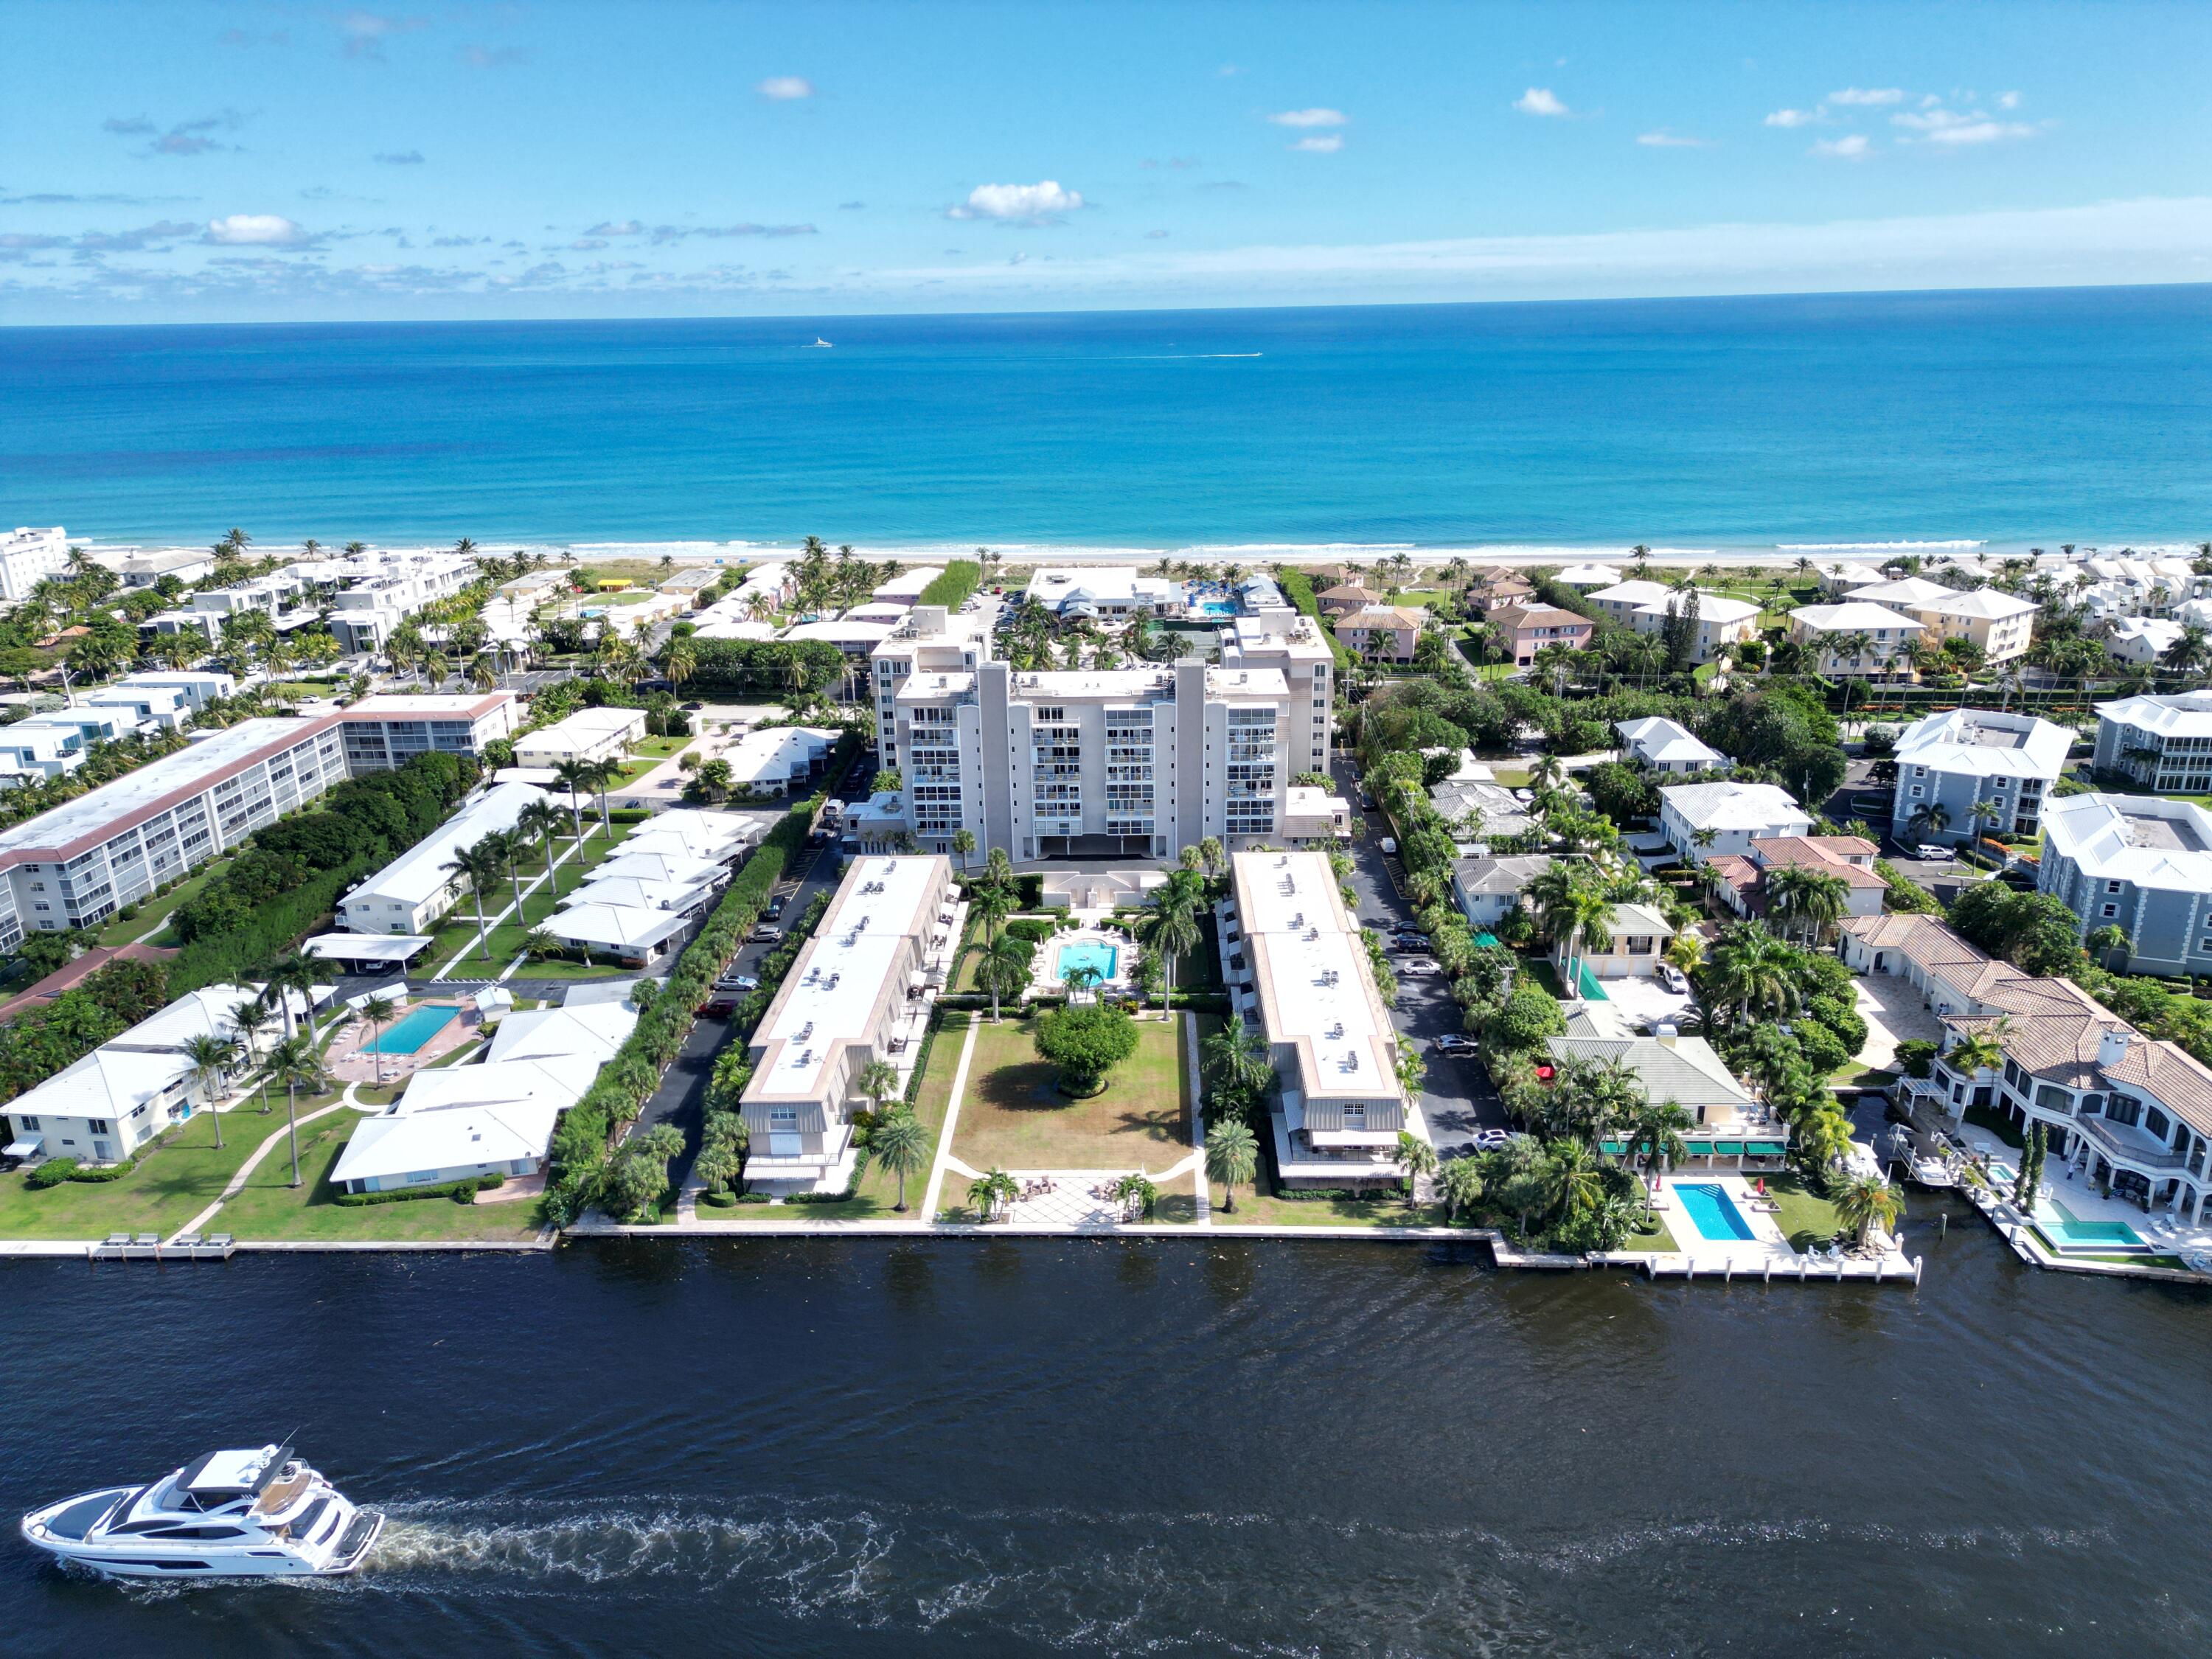
<path id="1" fill-rule="evenodd" d="M 856 858 L 845 872 L 752 1033 L 739 1110 L 754 1188 L 834 1192 L 852 1179 L 860 1071 L 891 1057 L 951 914 L 945 858 Z"/>

